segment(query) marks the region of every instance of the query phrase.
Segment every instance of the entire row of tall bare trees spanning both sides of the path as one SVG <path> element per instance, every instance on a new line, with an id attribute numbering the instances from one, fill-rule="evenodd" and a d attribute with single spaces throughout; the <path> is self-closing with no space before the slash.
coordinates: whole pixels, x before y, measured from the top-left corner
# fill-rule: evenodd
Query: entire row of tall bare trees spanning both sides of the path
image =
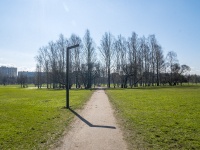
<path id="1" fill-rule="evenodd" d="M 59 36 L 39 49 L 37 60 L 37 84 L 47 88 L 64 88 L 66 79 L 66 47 L 79 44 L 70 50 L 70 85 L 91 88 L 92 85 L 111 84 L 126 88 L 137 86 L 176 85 L 185 82 L 187 65 L 178 63 L 175 52 L 165 57 L 155 35 L 138 37 L 133 32 L 128 38 L 115 38 L 106 32 L 98 47 L 86 30 L 83 39 L 72 34 L 66 39 Z"/>

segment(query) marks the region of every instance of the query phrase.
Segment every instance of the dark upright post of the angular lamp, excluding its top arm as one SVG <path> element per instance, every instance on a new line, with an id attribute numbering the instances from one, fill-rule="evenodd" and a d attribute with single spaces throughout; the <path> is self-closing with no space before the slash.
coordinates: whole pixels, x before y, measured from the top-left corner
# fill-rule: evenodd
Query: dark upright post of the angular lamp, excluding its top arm
<path id="1" fill-rule="evenodd" d="M 67 67 L 66 67 L 66 107 L 69 109 L 69 48 L 67 48 Z"/>

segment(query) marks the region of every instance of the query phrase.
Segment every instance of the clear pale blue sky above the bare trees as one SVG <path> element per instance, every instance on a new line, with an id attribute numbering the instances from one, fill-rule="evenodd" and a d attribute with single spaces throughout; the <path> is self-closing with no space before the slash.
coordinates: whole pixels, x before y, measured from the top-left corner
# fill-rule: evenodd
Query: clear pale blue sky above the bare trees
<path id="1" fill-rule="evenodd" d="M 0 0 L 0 65 L 34 71 L 40 47 L 86 29 L 97 46 L 105 32 L 155 34 L 200 75 L 200 0 Z"/>

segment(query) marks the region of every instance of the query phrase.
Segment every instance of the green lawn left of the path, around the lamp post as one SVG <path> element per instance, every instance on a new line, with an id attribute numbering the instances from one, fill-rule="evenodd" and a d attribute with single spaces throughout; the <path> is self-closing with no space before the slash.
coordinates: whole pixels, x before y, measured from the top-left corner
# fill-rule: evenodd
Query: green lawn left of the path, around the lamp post
<path id="1" fill-rule="evenodd" d="M 48 149 L 72 121 L 65 90 L 0 87 L 0 149 Z M 71 90 L 70 106 L 80 109 L 90 90 Z"/>

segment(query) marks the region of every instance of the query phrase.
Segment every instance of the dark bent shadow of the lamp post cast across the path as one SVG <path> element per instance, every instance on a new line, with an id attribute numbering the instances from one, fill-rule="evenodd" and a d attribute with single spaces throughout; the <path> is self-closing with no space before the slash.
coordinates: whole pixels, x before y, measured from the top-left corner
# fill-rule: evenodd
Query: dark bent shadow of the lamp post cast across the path
<path id="1" fill-rule="evenodd" d="M 76 115 L 81 121 L 83 121 L 84 123 L 86 123 L 89 127 L 116 129 L 116 127 L 114 127 L 114 126 L 93 125 L 92 123 L 90 123 L 88 120 L 86 120 L 85 118 L 83 118 L 81 115 L 79 115 L 77 112 L 75 112 L 75 111 L 72 110 L 71 108 L 69 108 L 69 110 L 70 110 L 74 115 Z"/>

